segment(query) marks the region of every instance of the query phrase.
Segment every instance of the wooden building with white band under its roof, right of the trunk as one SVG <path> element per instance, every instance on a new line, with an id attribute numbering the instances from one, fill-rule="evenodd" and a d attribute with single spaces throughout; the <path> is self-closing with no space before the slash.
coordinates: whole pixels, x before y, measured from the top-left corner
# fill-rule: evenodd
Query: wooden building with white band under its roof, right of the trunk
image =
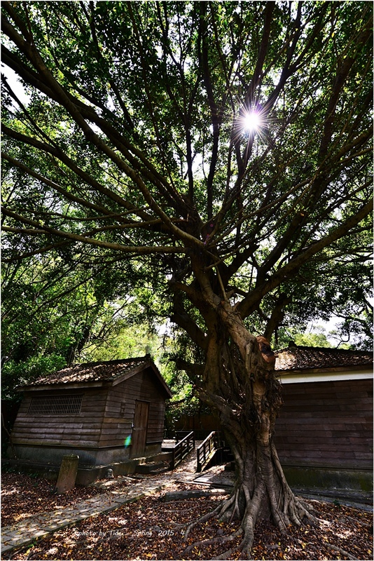
<path id="1" fill-rule="evenodd" d="M 335 486 L 372 480 L 372 353 L 294 345 L 277 352 L 275 370 L 284 399 L 275 442 L 285 473 L 303 473 L 306 484 L 310 475 L 314 485 L 321 474 Z"/>

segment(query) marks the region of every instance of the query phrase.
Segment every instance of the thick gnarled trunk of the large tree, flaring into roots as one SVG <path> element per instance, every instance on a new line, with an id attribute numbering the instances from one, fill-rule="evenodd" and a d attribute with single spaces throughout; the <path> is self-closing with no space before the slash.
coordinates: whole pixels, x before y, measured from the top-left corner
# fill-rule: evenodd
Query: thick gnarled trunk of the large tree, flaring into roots
<path id="1" fill-rule="evenodd" d="M 282 386 L 275 377 L 274 358 L 261 353 L 254 335 L 226 302 L 217 308 L 210 330 L 205 377 L 198 395 L 219 415 L 233 452 L 236 480 L 233 494 L 214 515 L 240 518 L 241 549 L 249 554 L 258 518 L 270 518 L 281 530 L 314 520 L 284 478 L 274 445 L 275 419 L 282 405 Z"/>

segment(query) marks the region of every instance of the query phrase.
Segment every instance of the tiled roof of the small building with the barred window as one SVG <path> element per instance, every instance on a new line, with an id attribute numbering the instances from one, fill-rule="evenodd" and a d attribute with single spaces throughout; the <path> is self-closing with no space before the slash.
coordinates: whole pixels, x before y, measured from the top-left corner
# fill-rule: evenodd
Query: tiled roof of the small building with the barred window
<path id="1" fill-rule="evenodd" d="M 126 372 L 149 363 L 149 356 L 127 358 L 121 360 L 106 360 L 100 363 L 84 363 L 68 366 L 48 376 L 40 377 L 29 386 L 46 384 L 72 384 L 76 382 L 112 381 Z"/>

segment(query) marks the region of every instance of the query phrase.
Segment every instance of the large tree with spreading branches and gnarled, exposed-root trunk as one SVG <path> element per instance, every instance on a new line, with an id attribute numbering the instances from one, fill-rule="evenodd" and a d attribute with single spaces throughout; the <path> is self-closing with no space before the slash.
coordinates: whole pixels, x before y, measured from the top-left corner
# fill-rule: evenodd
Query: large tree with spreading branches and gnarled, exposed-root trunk
<path id="1" fill-rule="evenodd" d="M 366 305 L 371 5 L 2 7 L 2 58 L 28 96 L 4 79 L 4 257 L 83 252 L 153 283 L 235 456 L 215 514 L 242 518 L 248 552 L 258 517 L 309 515 L 275 450 L 280 384 L 254 318 L 270 339 L 347 286 Z"/>

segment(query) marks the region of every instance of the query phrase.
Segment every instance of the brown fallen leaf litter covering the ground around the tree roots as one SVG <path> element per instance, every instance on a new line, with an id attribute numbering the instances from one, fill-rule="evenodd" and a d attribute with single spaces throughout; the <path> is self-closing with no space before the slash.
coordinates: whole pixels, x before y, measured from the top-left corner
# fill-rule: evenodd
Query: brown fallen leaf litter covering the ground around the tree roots
<path id="1" fill-rule="evenodd" d="M 30 509 L 30 501 L 34 501 L 33 514 L 36 513 L 35 506 L 44 510 L 54 508 L 45 492 L 53 487 L 51 482 L 18 475 L 18 485 L 16 477 L 4 475 L 6 482 L 4 485 L 3 479 L 2 492 L 5 504 L 3 499 L 2 508 L 5 520 L 11 520 L 11 501 L 13 520 L 20 520 L 22 513 Z M 168 490 L 188 487 L 174 483 Z M 55 496 L 55 499 L 66 501 L 68 505 L 102 493 L 103 489 L 76 487 L 71 491 Z M 186 525 L 212 511 L 223 499 L 222 496 L 219 499 L 203 496 L 165 503 L 162 500 L 164 494 L 165 490 L 78 522 L 35 541 L 31 546 L 13 550 L 3 555 L 3 559 L 206 560 L 214 559 L 227 548 L 220 543 L 221 537 L 234 534 L 240 525 L 237 521 L 229 524 L 211 519 L 196 526 L 188 539 L 183 541 Z M 318 527 L 307 523 L 300 528 L 290 526 L 286 534 L 281 534 L 271 522 L 259 521 L 252 548 L 254 560 L 373 559 L 373 513 L 340 504 L 316 500 L 307 502 L 321 520 Z M 2 522 L 3 526 L 6 525 L 4 519 Z M 240 537 L 231 545 L 239 546 L 239 543 Z M 185 550 L 188 553 L 183 555 Z M 240 552 L 234 551 L 228 558 L 242 557 Z"/>

